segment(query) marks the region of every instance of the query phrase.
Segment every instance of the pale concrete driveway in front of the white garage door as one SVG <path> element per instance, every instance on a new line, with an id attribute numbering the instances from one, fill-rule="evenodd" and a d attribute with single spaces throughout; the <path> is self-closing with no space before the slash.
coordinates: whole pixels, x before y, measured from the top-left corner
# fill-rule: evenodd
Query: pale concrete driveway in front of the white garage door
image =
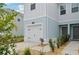
<path id="1" fill-rule="evenodd" d="M 24 51 L 25 48 L 31 48 L 33 50 L 37 50 L 37 51 L 42 51 L 42 47 L 38 46 L 40 44 L 40 42 L 20 42 L 20 43 L 16 43 L 16 52 L 20 51 Z M 48 45 L 46 45 L 45 47 L 43 47 L 43 52 L 48 52 L 50 51 L 50 47 Z"/>

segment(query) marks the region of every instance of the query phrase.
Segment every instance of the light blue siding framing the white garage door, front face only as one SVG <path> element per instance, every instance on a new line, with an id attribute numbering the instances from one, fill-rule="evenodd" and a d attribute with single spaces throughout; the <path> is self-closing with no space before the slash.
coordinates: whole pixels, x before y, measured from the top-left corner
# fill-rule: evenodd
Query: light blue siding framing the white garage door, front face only
<path id="1" fill-rule="evenodd" d="M 46 23 L 47 23 L 47 21 L 46 21 L 46 17 L 41 17 L 41 18 L 36 18 L 36 19 L 31 19 L 31 20 L 27 20 L 27 21 L 25 21 L 24 22 L 24 27 L 25 27 L 25 29 L 24 29 L 24 34 L 25 34 L 25 37 L 26 37 L 26 26 L 28 25 L 28 24 L 32 24 L 32 22 L 35 22 L 35 24 L 37 24 L 37 23 L 42 23 L 43 24 L 43 38 L 44 39 L 47 39 L 47 36 L 46 36 L 46 34 L 47 34 L 47 31 L 46 31 L 46 28 L 47 28 L 47 26 L 46 26 Z"/>

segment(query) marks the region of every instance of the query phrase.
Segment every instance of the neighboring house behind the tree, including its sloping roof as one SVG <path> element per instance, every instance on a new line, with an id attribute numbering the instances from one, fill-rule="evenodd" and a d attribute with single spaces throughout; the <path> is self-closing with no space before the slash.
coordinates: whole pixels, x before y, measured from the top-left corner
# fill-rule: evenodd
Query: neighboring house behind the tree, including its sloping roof
<path id="1" fill-rule="evenodd" d="M 9 8 L 5 8 L 4 10 L 9 13 L 17 12 L 15 10 L 12 10 Z M 24 36 L 24 14 L 22 14 L 20 12 L 17 12 L 17 13 L 18 13 L 18 15 L 13 20 L 15 27 L 12 30 L 12 34 L 15 36 Z"/>

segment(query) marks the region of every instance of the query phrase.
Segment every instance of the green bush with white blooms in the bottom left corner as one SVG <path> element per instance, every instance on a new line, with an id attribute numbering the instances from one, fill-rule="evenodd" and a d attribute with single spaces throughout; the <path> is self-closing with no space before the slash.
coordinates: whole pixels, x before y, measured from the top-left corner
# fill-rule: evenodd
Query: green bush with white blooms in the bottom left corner
<path id="1" fill-rule="evenodd" d="M 14 40 L 10 35 L 0 38 L 0 55 L 16 55 Z"/>

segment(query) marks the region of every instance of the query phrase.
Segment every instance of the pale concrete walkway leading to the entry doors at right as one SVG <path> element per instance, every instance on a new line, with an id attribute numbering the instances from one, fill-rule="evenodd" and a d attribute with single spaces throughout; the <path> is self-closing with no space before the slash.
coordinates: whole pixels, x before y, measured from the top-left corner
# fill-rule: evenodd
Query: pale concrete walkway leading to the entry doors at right
<path id="1" fill-rule="evenodd" d="M 79 41 L 71 41 L 62 51 L 64 55 L 78 55 Z"/>

